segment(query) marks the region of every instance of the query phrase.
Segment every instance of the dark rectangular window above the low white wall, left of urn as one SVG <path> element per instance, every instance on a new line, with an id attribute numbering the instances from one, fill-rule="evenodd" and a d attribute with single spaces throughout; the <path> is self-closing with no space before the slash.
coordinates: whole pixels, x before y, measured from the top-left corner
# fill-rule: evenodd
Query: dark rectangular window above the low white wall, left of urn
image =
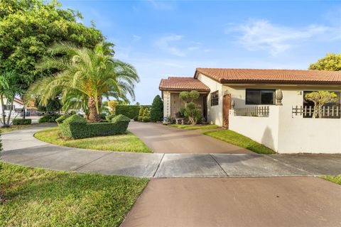
<path id="1" fill-rule="evenodd" d="M 247 105 L 273 105 L 275 104 L 274 89 L 247 89 Z"/>

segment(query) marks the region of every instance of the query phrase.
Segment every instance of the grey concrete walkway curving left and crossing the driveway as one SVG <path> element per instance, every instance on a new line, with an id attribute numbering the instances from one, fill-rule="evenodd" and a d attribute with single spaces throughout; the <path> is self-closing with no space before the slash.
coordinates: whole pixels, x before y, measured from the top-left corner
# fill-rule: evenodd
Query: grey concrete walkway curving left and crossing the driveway
<path id="1" fill-rule="evenodd" d="M 277 177 L 341 173 L 340 155 L 150 154 L 67 148 L 33 137 L 36 131 L 48 126 L 2 134 L 4 153 L 1 159 L 50 170 L 134 177 Z M 310 165 L 305 166 L 305 163 Z"/>

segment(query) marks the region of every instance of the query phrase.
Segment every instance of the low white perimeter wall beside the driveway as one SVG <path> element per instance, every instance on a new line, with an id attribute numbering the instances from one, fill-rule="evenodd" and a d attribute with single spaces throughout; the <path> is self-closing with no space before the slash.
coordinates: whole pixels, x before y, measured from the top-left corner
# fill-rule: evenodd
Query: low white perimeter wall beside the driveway
<path id="1" fill-rule="evenodd" d="M 269 117 L 230 111 L 229 129 L 277 153 L 341 153 L 341 118 L 292 116 L 289 105 L 269 106 Z"/>

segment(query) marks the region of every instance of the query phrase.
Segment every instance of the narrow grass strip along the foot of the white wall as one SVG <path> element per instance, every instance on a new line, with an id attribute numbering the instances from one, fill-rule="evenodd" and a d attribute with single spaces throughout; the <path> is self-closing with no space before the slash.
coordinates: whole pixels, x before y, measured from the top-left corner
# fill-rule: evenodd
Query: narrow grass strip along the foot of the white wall
<path id="1" fill-rule="evenodd" d="M 242 148 L 247 148 L 249 150 L 254 151 L 255 153 L 259 153 L 259 154 L 274 154 L 275 153 L 274 150 L 271 150 L 270 148 L 266 148 L 266 146 L 261 145 L 260 143 L 257 143 L 256 141 L 251 140 L 250 138 L 247 138 L 246 136 L 236 133 L 234 131 L 220 130 L 220 131 L 204 131 L 202 133 L 205 135 L 210 135 L 214 138 L 223 140 L 227 143 L 231 143 Z"/>

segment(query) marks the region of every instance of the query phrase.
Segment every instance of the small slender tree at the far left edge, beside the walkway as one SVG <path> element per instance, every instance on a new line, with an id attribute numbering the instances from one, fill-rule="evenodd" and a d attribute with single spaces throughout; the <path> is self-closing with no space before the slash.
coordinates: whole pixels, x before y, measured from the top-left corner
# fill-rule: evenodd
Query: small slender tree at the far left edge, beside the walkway
<path id="1" fill-rule="evenodd" d="M 0 103 L 2 108 L 2 127 L 9 127 L 13 102 L 16 95 L 23 93 L 23 89 L 18 85 L 18 74 L 14 72 L 0 72 Z M 6 103 L 5 100 L 6 99 Z M 9 115 L 5 114 L 5 105 L 9 107 Z M 6 118 L 7 117 L 7 118 Z"/>

